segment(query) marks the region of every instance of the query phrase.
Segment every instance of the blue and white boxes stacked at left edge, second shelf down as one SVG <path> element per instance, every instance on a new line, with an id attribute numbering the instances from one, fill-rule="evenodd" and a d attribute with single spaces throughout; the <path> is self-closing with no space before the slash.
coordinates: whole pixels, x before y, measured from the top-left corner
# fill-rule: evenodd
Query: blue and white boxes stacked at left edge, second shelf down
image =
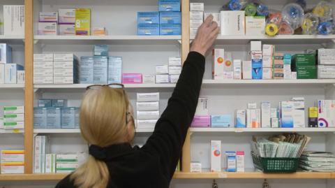
<path id="1" fill-rule="evenodd" d="M 24 67 L 12 64 L 12 48 L 0 43 L 0 84 L 23 84 Z"/>

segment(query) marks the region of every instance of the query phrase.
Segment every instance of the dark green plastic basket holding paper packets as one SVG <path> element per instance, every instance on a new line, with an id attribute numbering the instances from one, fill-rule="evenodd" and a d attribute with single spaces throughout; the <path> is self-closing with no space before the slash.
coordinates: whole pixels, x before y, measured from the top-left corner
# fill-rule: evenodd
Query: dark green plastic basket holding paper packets
<path id="1" fill-rule="evenodd" d="M 295 173 L 299 167 L 299 158 L 265 158 L 253 156 L 253 164 L 264 173 Z"/>

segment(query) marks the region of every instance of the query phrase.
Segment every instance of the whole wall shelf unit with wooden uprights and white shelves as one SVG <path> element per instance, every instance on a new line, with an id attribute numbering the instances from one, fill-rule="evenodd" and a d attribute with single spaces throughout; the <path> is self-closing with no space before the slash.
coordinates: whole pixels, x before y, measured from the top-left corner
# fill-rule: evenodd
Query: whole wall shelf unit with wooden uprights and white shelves
<path id="1" fill-rule="evenodd" d="M 38 3 L 45 1 L 45 5 L 38 5 Z M 77 0 L 79 1 L 79 0 Z M 145 3 L 152 3 L 154 1 L 151 0 L 142 0 Z M 271 0 L 266 0 L 268 3 L 272 2 Z M 310 0 L 312 3 L 315 3 L 315 0 Z M 159 50 L 163 49 L 168 51 L 168 53 L 164 53 L 164 57 L 168 57 L 170 55 L 181 55 L 181 58 L 184 62 L 186 59 L 189 48 L 190 48 L 190 41 L 194 39 L 194 36 L 189 36 L 189 3 L 190 0 L 183 0 L 181 1 L 181 10 L 182 10 L 182 34 L 181 36 L 136 36 L 134 34 L 111 34 L 110 36 L 39 36 L 36 35 L 36 29 L 34 29 L 34 25 L 36 24 L 36 13 L 38 10 L 53 10 L 52 8 L 52 0 L 24 0 L 25 4 L 25 22 L 26 22 L 26 29 L 25 29 L 25 36 L 0 36 L 0 41 L 3 42 L 10 42 L 14 45 L 17 44 L 24 44 L 24 65 L 26 70 L 26 82 L 25 85 L 0 85 L 0 92 L 3 90 L 12 90 L 12 89 L 24 89 L 24 106 L 26 109 L 25 113 L 25 129 L 20 131 L 4 131 L 0 130 L 0 135 L 7 135 L 8 133 L 24 133 L 24 147 L 26 152 L 25 155 L 25 174 L 23 175 L 0 175 L 0 182 L 1 181 L 54 181 L 54 180 L 61 180 L 66 175 L 65 174 L 33 174 L 33 143 L 34 143 L 34 134 L 41 133 L 41 134 L 53 134 L 52 136 L 58 136 L 57 139 L 61 140 L 62 138 L 68 136 L 70 138 L 77 137 L 79 134 L 79 129 L 36 129 L 34 130 L 33 126 L 33 108 L 34 108 L 34 97 L 40 95 L 37 91 L 40 89 L 43 92 L 47 93 L 47 96 L 52 96 L 50 93 L 55 94 L 64 94 L 64 90 L 68 92 L 68 95 L 71 99 L 73 99 L 73 103 L 78 104 L 79 101 L 77 100 L 78 94 L 82 94 L 83 90 L 88 85 L 34 85 L 33 83 L 33 55 L 34 50 L 35 52 L 52 52 L 55 48 L 58 49 L 59 52 L 70 52 L 68 51 L 69 48 L 73 48 L 73 45 L 80 46 L 80 50 L 77 53 L 81 55 L 87 55 L 87 49 L 91 48 L 94 44 L 108 44 L 112 46 L 112 50 L 117 52 L 117 55 L 120 55 L 120 52 L 130 50 L 130 52 L 143 52 L 143 53 L 151 53 L 150 48 L 158 48 Z M 55 8 L 58 6 L 63 6 L 62 3 L 68 3 L 66 0 L 57 0 L 55 2 Z M 334 1 L 333 1 L 334 2 Z M 99 1 L 96 3 L 102 3 L 103 5 L 107 3 L 107 1 Z M 118 0 L 117 3 L 122 4 L 121 0 Z M 128 1 L 125 3 L 126 6 L 134 2 Z M 206 3 L 206 2 L 205 2 Z M 214 10 L 213 4 L 221 4 L 219 0 L 211 0 L 209 1 L 209 8 L 205 7 L 205 10 Z M 37 6 L 36 6 L 37 4 Z M 82 4 L 82 7 L 91 6 L 91 1 L 85 1 Z M 146 5 L 147 5 L 146 4 Z M 275 3 L 277 6 L 277 3 Z M 135 3 L 136 5 L 136 3 Z M 75 3 L 69 3 L 66 6 L 75 7 Z M 218 6 L 218 5 L 216 5 Z M 97 7 L 94 7 L 97 8 Z M 100 7 L 98 7 L 100 8 Z M 143 8 L 143 7 L 141 7 Z M 149 8 L 151 10 L 151 6 Z M 144 8 L 145 9 L 145 8 Z M 132 9 L 133 10 L 133 9 Z M 94 12 L 92 12 L 94 13 Z M 133 27 L 133 26 L 132 26 Z M 242 45 L 246 45 L 249 41 L 252 40 L 261 40 L 265 43 L 271 44 L 278 44 L 279 50 L 283 49 L 284 44 L 290 44 L 289 50 L 292 52 L 301 52 L 301 50 L 297 50 L 295 45 L 299 45 L 303 48 L 312 46 L 311 48 L 318 48 L 322 47 L 331 47 L 334 48 L 335 43 L 335 35 L 329 36 L 306 36 L 306 35 L 294 35 L 294 36 L 275 36 L 275 37 L 268 37 L 268 36 L 218 36 L 216 39 L 216 45 L 223 46 L 224 48 L 228 48 L 228 50 L 232 50 L 232 52 L 237 53 L 237 55 L 241 55 L 245 57 L 245 54 L 238 53 L 238 50 L 241 50 Z M 292 44 L 293 43 L 293 44 Z M 113 47 L 113 46 L 116 47 Z M 154 46 L 154 47 L 151 47 Z M 61 48 L 59 48 L 61 46 Z M 67 46 L 70 46 L 67 48 Z M 125 47 L 126 46 L 126 47 Z M 129 47 L 131 46 L 131 47 Z M 64 47 L 64 49 L 62 49 Z M 119 50 L 118 48 L 121 48 Z M 138 49 L 144 49 L 140 51 Z M 172 48 L 177 48 L 177 50 L 171 50 Z M 135 49 L 135 50 L 134 50 Z M 149 50 L 148 50 L 149 49 Z M 111 51 L 112 51 L 111 50 Z M 156 50 L 156 49 L 155 49 Z M 158 53 L 163 53 L 158 50 Z M 161 50 L 161 51 L 163 51 Z M 245 50 L 245 49 L 242 49 Z M 83 51 L 83 52 L 82 52 Z M 177 52 L 175 52 L 177 51 Z M 138 55 L 138 53 L 136 54 Z M 153 52 L 152 55 L 155 55 Z M 131 57 L 132 55 L 127 54 L 126 56 Z M 153 59 L 155 59 L 154 57 Z M 136 61 L 137 59 L 126 59 L 126 62 Z M 152 59 L 140 59 L 140 61 L 152 61 Z M 157 59 L 156 59 L 157 60 Z M 210 61 L 210 57 L 207 57 L 207 66 L 209 66 L 208 62 Z M 137 64 L 132 64 L 132 66 L 136 66 Z M 151 64 L 150 64 L 151 66 Z M 133 70 L 127 67 L 129 70 Z M 153 72 L 154 69 L 150 69 Z M 237 99 L 242 95 L 249 94 L 246 91 L 251 91 L 249 95 L 255 96 L 255 91 L 258 92 L 265 92 L 264 96 L 269 96 L 271 94 L 275 95 L 276 97 L 280 98 L 281 100 L 289 95 L 299 94 L 297 89 L 304 89 L 305 92 L 311 92 L 311 94 L 307 95 L 309 99 L 315 99 L 316 97 L 323 97 L 324 99 L 335 99 L 335 80 L 209 80 L 211 73 L 208 72 L 209 68 L 207 67 L 207 72 L 205 73 L 205 78 L 203 80 L 202 85 L 202 96 L 206 96 L 210 92 L 215 92 L 215 95 L 212 95 L 215 100 L 219 100 L 218 96 L 225 95 L 228 96 L 229 99 L 223 100 L 232 100 L 232 92 L 229 89 L 234 88 L 237 90 Z M 145 70 L 148 71 L 148 70 Z M 211 72 L 211 71 L 210 71 Z M 207 76 L 206 76 L 207 75 Z M 168 94 L 171 93 L 171 90 L 175 87 L 175 84 L 143 84 L 143 85 L 125 85 L 126 88 L 131 89 L 132 92 L 136 91 L 161 91 L 163 90 L 163 96 L 168 97 Z M 274 87 L 274 92 L 265 91 L 266 89 Z M 276 88 L 278 87 L 278 88 Z M 325 89 L 322 92 L 315 92 L 313 89 L 309 88 L 316 88 L 316 89 Z M 250 89 L 250 90 L 249 90 Z M 279 94 L 276 95 L 279 89 L 287 89 L 285 92 L 288 94 Z M 289 89 L 294 90 L 290 92 Z M 61 90 L 61 92 L 59 92 Z M 79 91 L 78 91 L 79 90 Z M 66 93 L 65 92 L 65 93 Z M 285 93 L 282 92 L 282 93 Z M 247 93 L 247 94 L 246 94 Z M 131 93 L 132 96 L 132 93 Z M 62 95 L 62 97 L 66 97 Z M 77 98 L 76 98 L 77 97 Z M 262 96 L 259 96 L 259 98 Z M 258 99 L 259 99 L 258 98 Z M 265 99 L 270 99 L 269 97 Z M 164 103 L 167 103 L 168 98 L 164 98 Z M 279 100 L 279 99 L 278 99 Z M 274 100 L 276 101 L 276 100 Z M 277 101 L 276 101 L 277 102 Z M 231 103 L 228 103 L 228 106 Z M 147 133 L 151 133 L 153 129 L 137 129 L 137 133 L 141 133 L 140 136 L 147 135 Z M 242 139 L 246 140 L 249 138 L 253 133 L 282 133 L 282 132 L 299 132 L 299 133 L 306 133 L 306 134 L 313 134 L 313 136 L 317 137 L 317 143 L 313 145 L 315 147 L 321 147 L 322 150 L 326 148 L 335 151 L 334 148 L 330 143 L 335 140 L 335 136 L 333 133 L 335 132 L 335 128 L 329 129 L 316 129 L 316 128 L 304 128 L 304 129 L 215 129 L 215 128 L 191 128 L 188 131 L 188 136 L 186 137 L 185 145 L 183 148 L 183 171 L 177 172 L 174 174 L 175 179 L 334 179 L 335 173 L 309 173 L 309 172 L 299 172 L 294 174 L 265 174 L 259 172 L 246 172 L 246 173 L 190 173 L 190 166 L 189 164 L 193 160 L 192 148 L 198 147 L 202 150 L 206 150 L 206 147 L 203 145 L 193 145 L 193 140 L 202 140 L 208 141 L 208 135 L 215 134 L 217 139 L 221 139 L 222 136 L 227 136 L 225 141 L 228 139 L 236 139 L 237 136 L 241 136 Z M 228 136 L 229 135 L 229 136 Z M 198 137 L 197 137 L 198 136 Z M 144 136 L 145 137 L 145 136 Z M 234 138 L 235 137 L 235 138 Z M 57 140 L 57 141 L 59 141 Z M 243 141 L 244 141 L 243 140 Z M 325 141 L 327 140 L 327 141 Z M 322 143 L 323 141 L 323 143 Z M 327 143 L 325 143 L 327 142 Z M 195 144 L 199 144 L 199 142 L 195 142 Z M 1 144 L 0 144 L 1 147 Z M 327 183 L 325 183 L 327 184 Z M 327 186 L 329 187 L 329 186 Z"/>

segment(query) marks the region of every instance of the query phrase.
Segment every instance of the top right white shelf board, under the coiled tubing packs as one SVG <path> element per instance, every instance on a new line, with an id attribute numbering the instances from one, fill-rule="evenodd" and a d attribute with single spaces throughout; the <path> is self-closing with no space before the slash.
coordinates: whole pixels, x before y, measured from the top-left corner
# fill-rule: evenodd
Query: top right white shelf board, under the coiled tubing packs
<path id="1" fill-rule="evenodd" d="M 191 36 L 194 39 L 195 36 Z M 260 40 L 271 44 L 321 44 L 334 41 L 335 35 L 278 35 L 278 36 L 223 36 L 216 38 L 216 44 L 247 44 L 252 40 Z"/>

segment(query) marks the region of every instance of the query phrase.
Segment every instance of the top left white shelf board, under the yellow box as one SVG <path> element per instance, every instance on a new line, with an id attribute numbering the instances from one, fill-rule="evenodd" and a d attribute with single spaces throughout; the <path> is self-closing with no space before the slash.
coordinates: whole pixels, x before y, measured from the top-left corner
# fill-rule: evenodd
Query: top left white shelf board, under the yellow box
<path id="1" fill-rule="evenodd" d="M 34 36 L 36 43 L 46 45 L 61 44 L 177 44 L 181 36 Z"/>

